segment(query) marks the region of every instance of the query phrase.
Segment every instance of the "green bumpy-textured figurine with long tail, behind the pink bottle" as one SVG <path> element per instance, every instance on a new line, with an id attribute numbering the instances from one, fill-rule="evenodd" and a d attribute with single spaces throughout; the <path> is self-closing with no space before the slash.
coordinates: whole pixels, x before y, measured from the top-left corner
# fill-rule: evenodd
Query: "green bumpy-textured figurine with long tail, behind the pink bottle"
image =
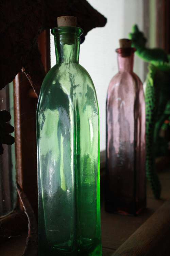
<path id="1" fill-rule="evenodd" d="M 161 185 L 155 170 L 155 148 L 160 129 L 170 116 L 170 63 L 163 49 L 149 49 L 146 38 L 133 26 L 129 34 L 136 54 L 150 63 L 146 80 L 146 174 L 156 199 L 160 198 Z"/>

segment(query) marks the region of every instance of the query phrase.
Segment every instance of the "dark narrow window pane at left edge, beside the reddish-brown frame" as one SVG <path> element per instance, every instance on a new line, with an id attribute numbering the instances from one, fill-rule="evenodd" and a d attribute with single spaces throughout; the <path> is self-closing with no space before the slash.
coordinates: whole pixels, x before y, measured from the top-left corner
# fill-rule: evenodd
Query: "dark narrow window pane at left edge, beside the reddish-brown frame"
<path id="1" fill-rule="evenodd" d="M 11 114 L 10 124 L 14 126 L 13 83 L 0 91 L 0 110 L 6 109 Z M 11 134 L 14 136 L 14 133 Z M 16 169 L 15 144 L 3 144 L 4 153 L 0 156 L 0 217 L 11 213 L 16 207 Z"/>

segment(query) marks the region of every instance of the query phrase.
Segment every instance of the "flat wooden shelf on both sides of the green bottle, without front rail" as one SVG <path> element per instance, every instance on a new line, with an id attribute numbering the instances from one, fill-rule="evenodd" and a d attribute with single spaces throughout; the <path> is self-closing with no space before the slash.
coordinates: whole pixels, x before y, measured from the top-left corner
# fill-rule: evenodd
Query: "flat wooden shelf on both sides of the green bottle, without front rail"
<path id="1" fill-rule="evenodd" d="M 111 256 L 114 252 L 125 244 L 125 241 L 132 237 L 132 234 L 139 230 L 140 227 L 157 211 L 167 200 L 170 199 L 170 171 L 159 173 L 162 183 L 162 198 L 155 200 L 149 184 L 147 184 L 147 209 L 139 216 L 122 216 L 117 214 L 106 213 L 104 210 L 104 171 L 101 172 L 101 226 L 102 226 L 102 244 L 103 256 Z M 160 213 L 159 213 L 160 214 Z M 142 225 L 143 224 L 143 225 Z M 142 225 L 142 226 L 141 226 Z M 158 226 L 159 222 L 157 223 Z M 170 231 L 170 226 L 169 226 Z M 153 231 L 152 231 L 153 232 Z M 136 233 L 134 233 L 136 234 Z M 148 234 L 149 236 L 149 234 Z M 0 247 L 0 255 L 3 256 L 22 256 L 26 244 L 27 233 L 22 233 L 18 237 L 9 238 L 9 241 Z M 129 240 L 128 240 L 129 241 Z M 165 242 L 166 243 L 166 242 Z M 168 243 L 169 244 L 169 243 Z M 134 243 L 135 246 L 135 243 Z M 160 244 L 160 246 L 163 246 Z M 165 247 L 165 246 L 164 246 Z M 131 254 L 119 254 L 131 255 Z M 132 254 L 135 255 L 136 254 Z M 148 255 L 148 254 L 147 254 Z M 150 254 L 152 255 L 152 254 Z M 156 256 L 156 254 L 153 254 Z M 161 256 L 170 255 L 165 251 Z"/>

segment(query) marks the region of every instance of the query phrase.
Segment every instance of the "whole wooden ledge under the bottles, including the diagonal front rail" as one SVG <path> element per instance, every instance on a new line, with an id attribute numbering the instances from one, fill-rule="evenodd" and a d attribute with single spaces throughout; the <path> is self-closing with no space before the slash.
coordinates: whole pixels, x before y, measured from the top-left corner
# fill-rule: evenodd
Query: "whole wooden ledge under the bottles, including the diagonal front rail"
<path id="1" fill-rule="evenodd" d="M 147 209 L 137 217 L 122 216 L 104 210 L 104 171 L 101 172 L 103 256 L 170 255 L 170 171 L 160 172 L 159 178 L 162 198 L 155 200 L 147 184 Z M 0 255 L 22 256 L 26 238 L 27 232 L 24 230 L 19 236 L 9 238 L 0 246 Z"/>

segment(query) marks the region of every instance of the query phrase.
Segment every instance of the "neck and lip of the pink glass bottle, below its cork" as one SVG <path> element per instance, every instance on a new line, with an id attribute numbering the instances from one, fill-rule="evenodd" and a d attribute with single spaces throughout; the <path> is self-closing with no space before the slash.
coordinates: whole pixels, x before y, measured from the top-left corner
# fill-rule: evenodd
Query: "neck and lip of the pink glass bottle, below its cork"
<path id="1" fill-rule="evenodd" d="M 118 67 L 119 71 L 132 72 L 134 63 L 134 48 L 119 48 L 116 50 L 118 53 Z"/>

